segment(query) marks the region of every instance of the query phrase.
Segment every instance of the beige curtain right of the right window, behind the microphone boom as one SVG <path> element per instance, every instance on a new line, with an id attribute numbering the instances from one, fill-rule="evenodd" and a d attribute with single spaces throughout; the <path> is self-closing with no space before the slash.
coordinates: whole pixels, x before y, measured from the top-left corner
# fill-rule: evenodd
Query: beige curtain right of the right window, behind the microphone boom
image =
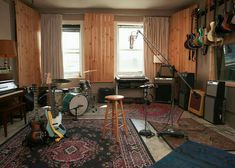
<path id="1" fill-rule="evenodd" d="M 145 17 L 144 18 L 144 34 L 148 40 L 158 49 L 160 55 L 165 59 L 168 57 L 168 42 L 169 42 L 169 18 L 168 17 Z M 153 63 L 154 54 L 145 43 L 145 75 L 150 81 L 154 81 L 161 64 Z M 157 57 L 159 58 L 159 56 Z M 164 61 L 164 59 L 161 59 Z"/>

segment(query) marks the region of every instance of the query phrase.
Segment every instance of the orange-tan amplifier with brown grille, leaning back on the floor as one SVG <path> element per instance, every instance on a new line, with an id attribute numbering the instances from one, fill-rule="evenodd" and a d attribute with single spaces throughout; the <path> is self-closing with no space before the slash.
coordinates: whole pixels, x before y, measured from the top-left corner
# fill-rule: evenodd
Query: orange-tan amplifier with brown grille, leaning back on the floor
<path id="1" fill-rule="evenodd" d="M 198 116 L 203 116 L 205 92 L 191 90 L 189 96 L 188 110 Z"/>

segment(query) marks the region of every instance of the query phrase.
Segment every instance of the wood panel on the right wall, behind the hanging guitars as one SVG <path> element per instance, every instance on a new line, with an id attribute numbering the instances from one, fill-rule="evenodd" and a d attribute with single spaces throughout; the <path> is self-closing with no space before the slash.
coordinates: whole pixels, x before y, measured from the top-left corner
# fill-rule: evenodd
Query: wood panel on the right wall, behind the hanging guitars
<path id="1" fill-rule="evenodd" d="M 196 62 L 188 59 L 189 50 L 184 47 L 186 35 L 191 32 L 191 15 L 195 8 L 193 5 L 170 17 L 169 62 L 179 72 L 196 72 Z"/>

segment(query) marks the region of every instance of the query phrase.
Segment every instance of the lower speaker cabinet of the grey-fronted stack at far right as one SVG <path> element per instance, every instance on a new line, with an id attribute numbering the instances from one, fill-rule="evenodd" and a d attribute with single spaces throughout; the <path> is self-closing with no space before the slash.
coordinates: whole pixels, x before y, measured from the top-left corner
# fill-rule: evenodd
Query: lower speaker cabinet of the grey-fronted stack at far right
<path id="1" fill-rule="evenodd" d="M 224 99 L 206 95 L 204 119 L 213 124 L 223 124 Z"/>

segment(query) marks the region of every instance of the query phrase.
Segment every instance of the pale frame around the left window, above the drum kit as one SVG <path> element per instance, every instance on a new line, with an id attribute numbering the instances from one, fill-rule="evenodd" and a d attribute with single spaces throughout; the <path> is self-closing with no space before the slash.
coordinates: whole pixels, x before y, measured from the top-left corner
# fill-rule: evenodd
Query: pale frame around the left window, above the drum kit
<path id="1" fill-rule="evenodd" d="M 76 77 L 72 77 L 72 78 L 68 78 L 68 79 L 77 79 L 77 78 L 83 78 L 84 77 L 84 74 L 83 74 L 83 69 L 84 69 L 84 51 L 83 51 L 83 32 L 84 32 L 84 29 L 83 29 L 83 21 L 75 21 L 75 20 L 63 20 L 62 21 L 62 26 L 63 25 L 80 25 L 80 45 L 79 45 L 79 50 L 80 50 L 80 56 L 79 56 L 79 70 L 78 70 L 78 76 Z M 62 27 L 61 27 L 61 30 L 62 30 Z M 63 30 L 62 32 L 63 33 Z M 62 41 L 63 43 L 63 41 Z M 63 44 L 62 44 L 62 54 L 63 54 Z M 64 74 L 64 69 L 63 69 L 63 74 Z"/>

